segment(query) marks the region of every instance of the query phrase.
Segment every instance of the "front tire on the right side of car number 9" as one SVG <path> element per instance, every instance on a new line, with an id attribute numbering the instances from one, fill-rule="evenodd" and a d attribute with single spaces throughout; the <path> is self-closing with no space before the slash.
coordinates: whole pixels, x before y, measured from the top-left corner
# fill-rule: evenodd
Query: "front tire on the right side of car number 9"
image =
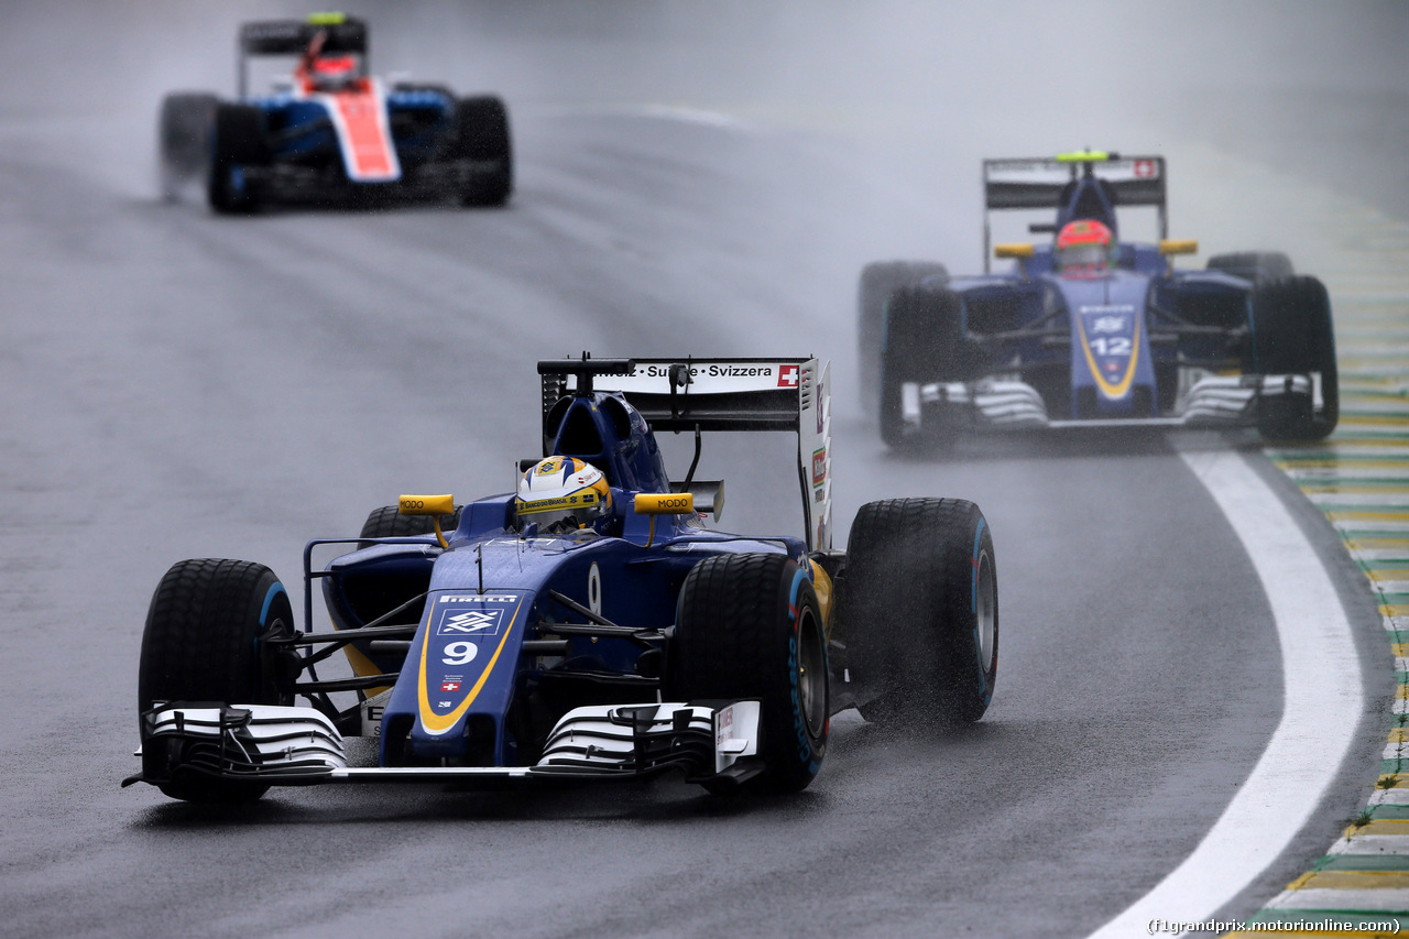
<path id="1" fill-rule="evenodd" d="M 690 568 L 671 643 L 672 695 L 762 702 L 771 790 L 807 787 L 827 753 L 827 636 L 812 581 L 783 554 L 720 554 Z"/>

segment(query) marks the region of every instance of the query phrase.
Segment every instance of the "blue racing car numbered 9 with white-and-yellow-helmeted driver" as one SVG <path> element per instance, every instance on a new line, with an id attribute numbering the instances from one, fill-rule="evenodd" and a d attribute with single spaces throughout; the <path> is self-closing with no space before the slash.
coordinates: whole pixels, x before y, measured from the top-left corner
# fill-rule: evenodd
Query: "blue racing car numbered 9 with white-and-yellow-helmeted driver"
<path id="1" fill-rule="evenodd" d="M 127 782 L 218 802 L 271 785 L 676 770 L 710 791 L 793 791 L 843 708 L 902 726 L 985 712 L 998 578 L 983 515 L 872 502 L 831 550 L 824 364 L 538 371 L 544 457 L 523 461 L 517 492 L 458 508 L 402 496 L 356 539 L 310 541 L 302 629 L 269 568 L 175 564 L 147 618 L 142 768 Z M 666 477 L 658 430 L 695 434 L 683 481 Z M 712 430 L 796 434 L 802 537 L 706 526 L 724 502 L 721 481 L 693 478 Z M 325 546 L 352 550 L 318 568 Z M 314 581 L 331 629 L 313 625 Z M 354 674 L 320 677 L 340 649 Z"/>

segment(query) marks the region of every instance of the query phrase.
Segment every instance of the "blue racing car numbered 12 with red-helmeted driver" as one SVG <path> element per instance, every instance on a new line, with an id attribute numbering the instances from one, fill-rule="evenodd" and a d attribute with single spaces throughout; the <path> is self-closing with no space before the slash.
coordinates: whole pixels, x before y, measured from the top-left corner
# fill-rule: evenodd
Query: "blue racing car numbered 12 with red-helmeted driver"
<path id="1" fill-rule="evenodd" d="M 883 262 L 861 275 L 862 385 L 892 447 L 975 427 L 1255 426 L 1313 440 L 1339 417 L 1330 300 L 1278 252 L 1175 269 L 1162 156 L 1102 152 L 983 162 L 985 274 Z M 1160 241 L 1117 237 L 1153 207 Z M 1055 210 L 1048 244 L 998 244 L 993 210 Z"/>

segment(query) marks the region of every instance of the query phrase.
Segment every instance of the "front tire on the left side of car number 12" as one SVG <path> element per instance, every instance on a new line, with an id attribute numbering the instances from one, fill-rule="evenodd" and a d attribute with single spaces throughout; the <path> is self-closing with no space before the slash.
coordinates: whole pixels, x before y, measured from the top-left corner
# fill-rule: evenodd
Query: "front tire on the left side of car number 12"
<path id="1" fill-rule="evenodd" d="M 900 393 L 906 382 L 960 382 L 971 376 L 964 341 L 964 306 L 945 288 L 902 286 L 886 305 L 881 336 L 881 438 L 890 448 L 936 446 L 952 436 L 948 427 L 905 423 Z"/>

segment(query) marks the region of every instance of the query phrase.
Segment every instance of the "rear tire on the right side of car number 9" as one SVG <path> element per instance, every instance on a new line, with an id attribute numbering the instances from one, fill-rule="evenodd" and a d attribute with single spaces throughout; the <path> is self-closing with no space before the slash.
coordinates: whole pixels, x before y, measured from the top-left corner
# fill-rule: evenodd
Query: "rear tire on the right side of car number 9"
<path id="1" fill-rule="evenodd" d="M 998 682 L 998 564 L 976 505 L 861 506 L 837 601 L 862 716 L 941 728 L 983 716 Z"/>

